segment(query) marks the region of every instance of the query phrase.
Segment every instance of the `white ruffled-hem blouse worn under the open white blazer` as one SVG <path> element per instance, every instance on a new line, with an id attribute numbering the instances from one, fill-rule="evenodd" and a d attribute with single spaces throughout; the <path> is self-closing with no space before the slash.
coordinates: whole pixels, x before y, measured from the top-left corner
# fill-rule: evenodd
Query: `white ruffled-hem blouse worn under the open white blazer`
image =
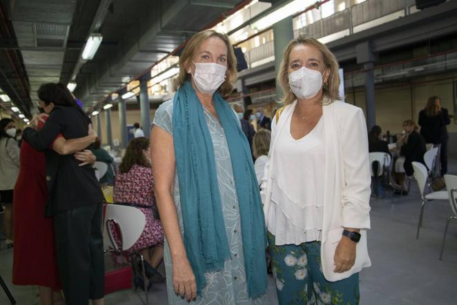
<path id="1" fill-rule="evenodd" d="M 295 106 L 294 106 L 295 107 Z M 292 110 L 293 111 L 293 110 Z M 277 135 L 268 230 L 275 244 L 321 239 L 324 206 L 325 133 L 322 117 L 301 139 L 291 135 L 291 115 Z"/>

